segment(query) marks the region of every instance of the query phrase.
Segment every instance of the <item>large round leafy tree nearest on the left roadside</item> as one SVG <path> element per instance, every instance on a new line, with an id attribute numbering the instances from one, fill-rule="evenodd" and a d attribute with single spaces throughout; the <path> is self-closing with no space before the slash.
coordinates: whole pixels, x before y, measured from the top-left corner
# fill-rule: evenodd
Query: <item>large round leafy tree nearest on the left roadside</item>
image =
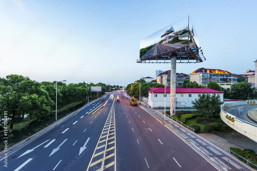
<path id="1" fill-rule="evenodd" d="M 39 120 L 50 114 L 54 102 L 42 84 L 22 75 L 7 75 L 0 78 L 0 120 L 4 119 L 4 111 L 8 111 L 10 132 L 13 124 L 20 123 L 24 115 L 31 120 Z"/>

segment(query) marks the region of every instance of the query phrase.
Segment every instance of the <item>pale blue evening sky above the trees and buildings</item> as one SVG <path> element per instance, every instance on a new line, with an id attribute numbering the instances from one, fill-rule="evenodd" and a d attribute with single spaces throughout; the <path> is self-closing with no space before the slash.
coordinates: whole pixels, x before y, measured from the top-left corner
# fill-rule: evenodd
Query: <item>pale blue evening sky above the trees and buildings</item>
<path id="1" fill-rule="evenodd" d="M 127 85 L 170 64 L 138 64 L 140 40 L 189 15 L 206 61 L 177 64 L 254 70 L 257 1 L 1 0 L 0 77 Z"/>

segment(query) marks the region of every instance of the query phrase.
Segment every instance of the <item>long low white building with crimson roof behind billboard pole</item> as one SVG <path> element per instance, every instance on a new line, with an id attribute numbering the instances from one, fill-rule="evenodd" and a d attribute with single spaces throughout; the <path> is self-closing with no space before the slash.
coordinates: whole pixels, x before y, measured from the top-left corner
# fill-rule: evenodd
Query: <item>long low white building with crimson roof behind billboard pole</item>
<path id="1" fill-rule="evenodd" d="M 164 96 L 165 88 L 150 88 L 149 93 L 149 105 L 151 107 L 170 106 L 170 88 L 166 88 L 166 97 Z M 176 106 L 192 106 L 192 101 L 198 99 L 202 93 L 209 93 L 210 96 L 216 93 L 217 96 L 221 97 L 223 101 L 224 92 L 220 92 L 210 88 L 176 88 Z M 165 99 L 166 98 L 166 99 Z"/>

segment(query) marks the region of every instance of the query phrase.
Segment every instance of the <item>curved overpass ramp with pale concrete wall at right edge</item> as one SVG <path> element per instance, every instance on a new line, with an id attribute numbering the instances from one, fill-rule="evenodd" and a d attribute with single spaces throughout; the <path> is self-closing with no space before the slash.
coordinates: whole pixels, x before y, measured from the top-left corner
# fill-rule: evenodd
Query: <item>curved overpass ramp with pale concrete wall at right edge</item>
<path id="1" fill-rule="evenodd" d="M 256 100 L 246 100 L 228 102 L 221 106 L 221 119 L 228 126 L 255 142 L 257 142 L 256 103 Z"/>

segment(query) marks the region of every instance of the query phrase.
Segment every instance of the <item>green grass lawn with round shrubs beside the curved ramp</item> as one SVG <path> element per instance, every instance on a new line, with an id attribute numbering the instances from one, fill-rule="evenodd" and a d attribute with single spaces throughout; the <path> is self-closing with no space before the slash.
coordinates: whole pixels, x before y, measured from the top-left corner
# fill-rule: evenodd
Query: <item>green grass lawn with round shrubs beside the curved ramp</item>
<path id="1" fill-rule="evenodd" d="M 194 124 L 197 124 L 200 126 L 201 130 L 198 132 L 198 133 L 209 133 L 207 131 L 204 130 L 204 125 L 206 124 L 210 124 L 210 123 L 213 123 L 213 122 L 219 122 L 221 123 L 221 118 L 219 119 L 205 119 L 201 124 L 199 123 L 196 123 L 196 120 L 195 118 L 193 119 L 190 119 L 190 120 L 187 120 L 186 121 L 186 125 L 188 126 L 192 126 Z M 223 125 L 226 125 L 226 124 L 223 124 Z M 221 128 L 220 130 L 215 130 L 215 131 L 212 131 L 210 133 L 215 133 L 215 134 L 230 134 L 230 133 L 238 133 L 237 131 L 235 131 L 234 129 L 224 129 L 224 128 Z"/>

